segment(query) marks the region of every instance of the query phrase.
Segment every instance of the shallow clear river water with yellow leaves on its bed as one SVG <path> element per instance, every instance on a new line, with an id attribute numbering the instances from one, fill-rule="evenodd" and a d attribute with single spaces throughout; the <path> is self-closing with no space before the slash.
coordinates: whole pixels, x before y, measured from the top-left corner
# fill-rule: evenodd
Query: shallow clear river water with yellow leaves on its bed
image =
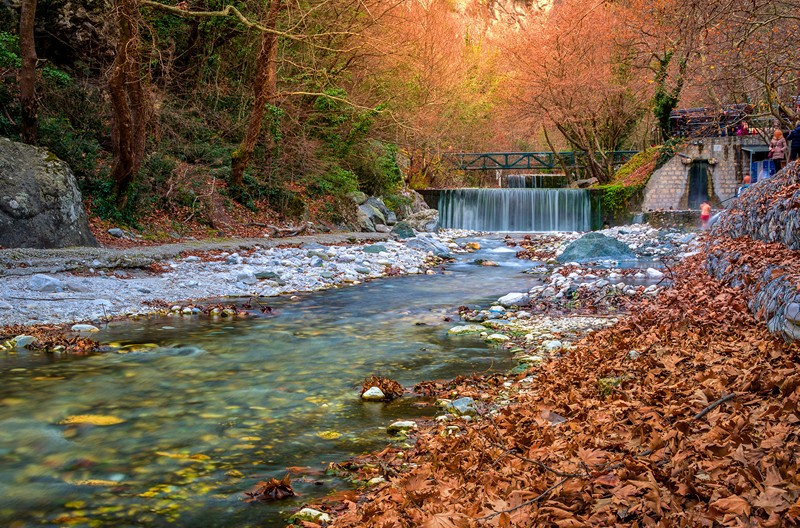
<path id="1" fill-rule="evenodd" d="M 127 353 L 0 356 L 0 525 L 283 526 L 283 512 L 346 487 L 324 475 L 328 462 L 380 449 L 386 425 L 433 412 L 409 397 L 361 402 L 365 377 L 408 387 L 513 366 L 447 334 L 458 306 L 535 283 L 501 240 L 480 242 L 445 273 L 271 299 L 271 317 L 105 327 L 99 339 Z M 60 423 L 75 415 L 119 423 Z M 300 497 L 243 501 L 288 471 Z"/>

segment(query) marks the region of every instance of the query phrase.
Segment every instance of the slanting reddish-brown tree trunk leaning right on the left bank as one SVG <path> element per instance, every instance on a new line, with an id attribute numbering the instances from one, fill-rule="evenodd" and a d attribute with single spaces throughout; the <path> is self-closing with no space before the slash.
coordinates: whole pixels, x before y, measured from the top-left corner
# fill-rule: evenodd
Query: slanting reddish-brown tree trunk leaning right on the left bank
<path id="1" fill-rule="evenodd" d="M 264 27 L 275 29 L 278 22 L 278 12 L 281 0 L 270 0 Z M 265 106 L 275 98 L 278 90 L 278 36 L 274 33 L 261 34 L 261 46 L 258 52 L 258 70 L 253 82 L 253 109 L 247 130 L 239 148 L 231 154 L 231 180 L 230 185 L 234 193 L 238 192 L 244 184 L 244 171 L 250 164 L 258 136 L 261 135 L 261 124 L 264 121 Z"/>

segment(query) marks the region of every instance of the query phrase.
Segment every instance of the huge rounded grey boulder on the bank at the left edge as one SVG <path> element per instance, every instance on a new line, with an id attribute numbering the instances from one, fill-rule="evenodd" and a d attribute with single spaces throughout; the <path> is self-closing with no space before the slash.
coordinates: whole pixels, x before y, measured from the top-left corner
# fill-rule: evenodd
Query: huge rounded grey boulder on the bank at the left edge
<path id="1" fill-rule="evenodd" d="M 66 163 L 0 138 L 0 246 L 97 246 Z"/>

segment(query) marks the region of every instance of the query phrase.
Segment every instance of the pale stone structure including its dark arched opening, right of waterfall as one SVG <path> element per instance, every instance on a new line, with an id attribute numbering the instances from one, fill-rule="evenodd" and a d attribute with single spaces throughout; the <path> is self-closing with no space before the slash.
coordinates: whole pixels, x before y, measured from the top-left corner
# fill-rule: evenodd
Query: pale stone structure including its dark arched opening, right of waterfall
<path id="1" fill-rule="evenodd" d="M 724 206 L 767 150 L 757 135 L 690 139 L 650 177 L 642 211 L 697 209 L 705 200 Z"/>

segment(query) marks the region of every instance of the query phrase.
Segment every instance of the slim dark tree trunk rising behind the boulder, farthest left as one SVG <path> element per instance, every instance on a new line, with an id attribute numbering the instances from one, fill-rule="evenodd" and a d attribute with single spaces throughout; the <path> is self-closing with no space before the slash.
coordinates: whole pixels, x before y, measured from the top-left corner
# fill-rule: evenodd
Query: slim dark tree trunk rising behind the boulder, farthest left
<path id="1" fill-rule="evenodd" d="M 35 145 L 38 140 L 38 110 L 36 102 L 36 45 L 33 26 L 36 20 L 36 0 L 23 0 L 19 16 L 19 50 L 22 68 L 19 71 L 19 102 L 22 110 L 20 136 L 23 143 Z"/>

